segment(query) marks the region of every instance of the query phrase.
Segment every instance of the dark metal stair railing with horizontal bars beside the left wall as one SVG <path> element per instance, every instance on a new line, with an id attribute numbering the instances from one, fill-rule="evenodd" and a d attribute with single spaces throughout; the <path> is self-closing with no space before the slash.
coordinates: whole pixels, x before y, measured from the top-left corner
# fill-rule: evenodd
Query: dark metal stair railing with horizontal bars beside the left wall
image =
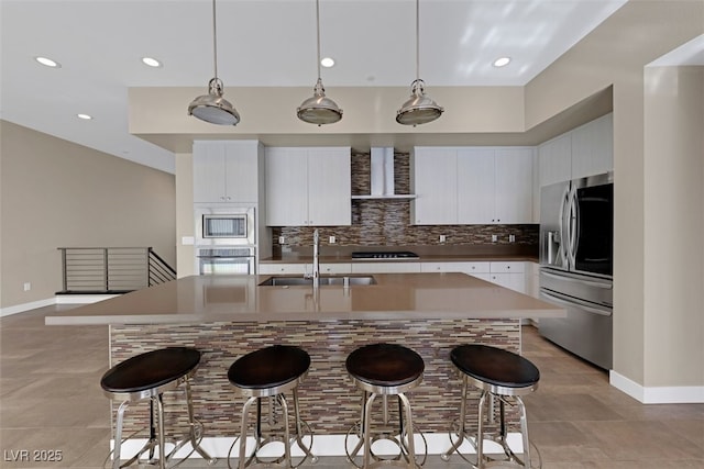
<path id="1" fill-rule="evenodd" d="M 128 293 L 176 278 L 151 247 L 59 247 L 58 293 Z"/>

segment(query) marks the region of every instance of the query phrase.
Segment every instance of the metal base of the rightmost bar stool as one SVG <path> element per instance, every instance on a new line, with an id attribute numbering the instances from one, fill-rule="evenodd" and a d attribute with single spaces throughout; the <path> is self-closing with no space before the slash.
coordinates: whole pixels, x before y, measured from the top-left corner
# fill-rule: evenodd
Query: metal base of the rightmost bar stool
<path id="1" fill-rule="evenodd" d="M 468 400 L 468 391 L 469 383 L 472 382 L 475 386 L 477 384 L 476 380 L 472 377 L 469 377 L 462 373 L 462 400 L 460 403 L 460 418 L 459 422 L 455 423 L 455 428 L 453 432 L 450 432 L 450 442 L 452 445 L 450 448 L 443 453 L 440 458 L 444 461 L 450 459 L 450 456 L 453 453 L 457 453 L 462 459 L 469 462 L 472 467 L 476 469 L 484 468 L 541 468 L 542 461 L 540 455 L 536 450 L 537 462 L 538 466 L 532 466 L 531 459 L 531 444 L 528 439 L 528 420 L 526 417 L 526 406 L 524 405 L 520 395 L 518 394 L 527 394 L 531 392 L 535 388 L 526 388 L 526 389 L 507 389 L 501 388 L 502 391 L 507 391 L 506 394 L 497 393 L 499 390 L 496 387 L 492 387 L 491 384 L 482 386 L 482 394 L 480 397 L 479 402 L 479 416 L 477 416 L 477 429 L 476 434 L 472 435 L 466 428 L 466 400 Z M 487 399 L 488 398 L 488 399 Z M 485 409 L 493 409 L 494 400 L 497 400 L 499 403 L 499 433 L 493 438 L 487 438 L 490 435 L 484 433 L 484 420 L 485 420 Z M 520 414 L 520 433 L 522 437 L 522 447 L 524 454 L 522 457 L 518 457 L 514 453 L 514 450 L 508 446 L 508 442 L 506 439 L 506 421 L 505 421 L 505 406 L 506 405 L 517 405 Z M 453 436 L 457 438 L 453 440 Z M 501 445 L 503 449 L 503 455 L 492 455 L 488 456 L 484 451 L 484 443 L 486 440 L 491 440 Z M 464 443 L 469 442 L 472 447 L 476 451 L 475 460 L 470 460 L 468 455 L 460 453 L 459 448 Z M 535 448 L 535 447 L 534 447 Z"/>

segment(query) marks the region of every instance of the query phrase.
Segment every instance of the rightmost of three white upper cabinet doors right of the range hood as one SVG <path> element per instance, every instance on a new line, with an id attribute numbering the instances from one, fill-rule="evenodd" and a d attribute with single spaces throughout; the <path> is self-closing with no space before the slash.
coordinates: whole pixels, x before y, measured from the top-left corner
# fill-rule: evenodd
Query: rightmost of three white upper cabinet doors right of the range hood
<path id="1" fill-rule="evenodd" d="M 494 223 L 532 223 L 532 148 L 497 149 Z"/>

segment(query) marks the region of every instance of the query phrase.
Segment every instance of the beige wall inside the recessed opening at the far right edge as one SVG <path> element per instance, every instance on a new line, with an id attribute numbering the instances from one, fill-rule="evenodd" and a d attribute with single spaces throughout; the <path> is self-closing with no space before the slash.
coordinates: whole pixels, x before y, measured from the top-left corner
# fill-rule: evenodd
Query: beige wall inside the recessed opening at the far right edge
<path id="1" fill-rule="evenodd" d="M 645 384 L 701 386 L 704 67 L 648 67 L 645 92 Z"/>

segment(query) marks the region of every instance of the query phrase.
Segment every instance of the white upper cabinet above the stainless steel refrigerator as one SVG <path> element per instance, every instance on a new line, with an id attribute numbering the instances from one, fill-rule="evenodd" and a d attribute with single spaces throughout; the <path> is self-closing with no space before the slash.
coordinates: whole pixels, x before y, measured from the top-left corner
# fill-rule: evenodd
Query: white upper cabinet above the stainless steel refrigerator
<path id="1" fill-rule="evenodd" d="M 614 169 L 614 114 L 608 113 L 538 147 L 540 186 Z"/>

